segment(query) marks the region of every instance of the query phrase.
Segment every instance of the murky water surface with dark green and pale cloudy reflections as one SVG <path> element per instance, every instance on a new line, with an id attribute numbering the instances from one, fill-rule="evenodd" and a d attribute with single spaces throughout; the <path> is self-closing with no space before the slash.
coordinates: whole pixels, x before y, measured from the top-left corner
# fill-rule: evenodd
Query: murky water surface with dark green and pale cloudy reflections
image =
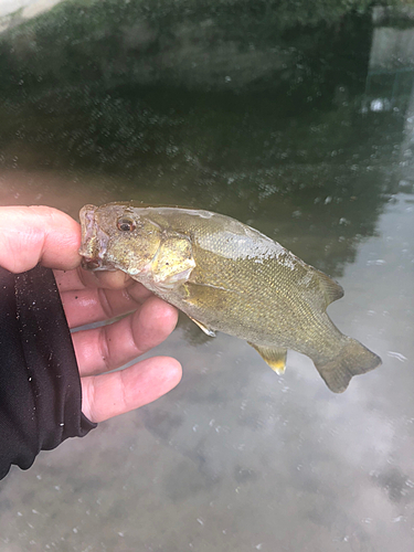
<path id="1" fill-rule="evenodd" d="M 63 2 L 0 35 L 0 204 L 235 216 L 383 359 L 335 395 L 182 320 L 174 391 L 1 482 L 1 551 L 411 550 L 414 25 L 362 4 Z"/>

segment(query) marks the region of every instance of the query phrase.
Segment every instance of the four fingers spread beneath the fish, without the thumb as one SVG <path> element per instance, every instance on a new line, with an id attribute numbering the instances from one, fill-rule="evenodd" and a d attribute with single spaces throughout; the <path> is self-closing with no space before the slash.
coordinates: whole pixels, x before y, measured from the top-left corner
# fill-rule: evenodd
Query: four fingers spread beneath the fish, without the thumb
<path id="1" fill-rule="evenodd" d="M 174 329 L 177 310 L 121 273 L 55 270 L 71 328 L 127 317 L 99 328 L 73 333 L 82 382 L 82 412 L 92 422 L 142 406 L 170 391 L 181 378 L 179 362 L 169 357 L 146 359 L 110 372 L 163 341 Z M 128 285 L 129 284 L 129 285 Z"/>

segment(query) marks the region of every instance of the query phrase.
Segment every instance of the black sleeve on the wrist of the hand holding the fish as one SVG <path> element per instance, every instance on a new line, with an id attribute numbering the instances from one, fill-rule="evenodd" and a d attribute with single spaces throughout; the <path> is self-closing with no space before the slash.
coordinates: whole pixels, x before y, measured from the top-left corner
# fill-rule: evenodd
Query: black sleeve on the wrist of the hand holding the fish
<path id="1" fill-rule="evenodd" d="M 96 424 L 81 412 L 81 380 L 53 272 L 0 267 L 0 479 L 40 450 Z"/>

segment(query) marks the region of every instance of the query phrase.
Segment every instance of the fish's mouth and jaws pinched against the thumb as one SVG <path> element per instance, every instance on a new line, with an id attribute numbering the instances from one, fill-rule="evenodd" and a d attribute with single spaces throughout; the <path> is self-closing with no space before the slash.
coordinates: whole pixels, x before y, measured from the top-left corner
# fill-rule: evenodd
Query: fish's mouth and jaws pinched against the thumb
<path id="1" fill-rule="evenodd" d="M 83 257 L 81 266 L 86 270 L 115 270 L 105 258 L 109 236 L 96 222 L 97 209 L 95 205 L 85 205 L 79 212 L 82 244 L 78 253 Z"/>

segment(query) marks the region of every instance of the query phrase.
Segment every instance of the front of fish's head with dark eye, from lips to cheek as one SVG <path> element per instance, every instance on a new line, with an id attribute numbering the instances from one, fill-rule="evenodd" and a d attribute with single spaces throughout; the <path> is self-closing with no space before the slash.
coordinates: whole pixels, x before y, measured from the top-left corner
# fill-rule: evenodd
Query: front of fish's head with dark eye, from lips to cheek
<path id="1" fill-rule="evenodd" d="M 134 277 L 150 266 L 161 242 L 160 226 L 128 204 L 85 205 L 79 220 L 85 269 L 120 269 Z"/>

